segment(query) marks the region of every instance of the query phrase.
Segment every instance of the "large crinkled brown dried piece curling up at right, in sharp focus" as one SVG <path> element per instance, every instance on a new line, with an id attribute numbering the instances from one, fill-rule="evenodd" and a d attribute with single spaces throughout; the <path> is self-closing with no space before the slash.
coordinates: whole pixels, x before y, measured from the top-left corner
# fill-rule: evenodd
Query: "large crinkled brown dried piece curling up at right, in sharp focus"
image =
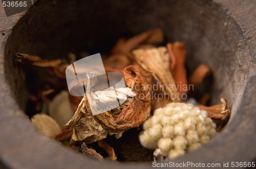
<path id="1" fill-rule="evenodd" d="M 150 116 L 151 91 L 141 86 L 147 86 L 151 82 L 151 75 L 138 66 L 129 66 L 124 69 L 123 76 L 126 85 L 136 93 L 136 97 L 128 98 L 127 102 L 121 106 L 95 116 L 92 116 L 89 97 L 83 97 L 75 115 L 67 123 L 73 129 L 74 140 L 93 143 L 105 138 L 108 134 L 137 127 Z M 139 96 L 144 98 L 141 99 Z"/>

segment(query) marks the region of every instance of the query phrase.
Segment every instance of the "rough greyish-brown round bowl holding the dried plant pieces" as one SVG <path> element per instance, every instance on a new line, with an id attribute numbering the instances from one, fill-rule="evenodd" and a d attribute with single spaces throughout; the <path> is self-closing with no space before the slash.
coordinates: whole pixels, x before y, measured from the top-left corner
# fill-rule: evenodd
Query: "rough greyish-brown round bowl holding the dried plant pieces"
<path id="1" fill-rule="evenodd" d="M 185 41 L 193 70 L 212 70 L 212 104 L 225 97 L 232 115 L 209 143 L 174 162 L 220 163 L 256 158 L 256 5 L 249 1 L 37 1 L 26 14 L 1 15 L 0 159 L 11 168 L 131 168 L 152 163 L 100 163 L 39 134 L 25 116 L 29 93 L 42 78 L 18 64 L 17 52 L 44 59 L 84 46 L 108 51 L 118 37 L 161 27 Z M 3 9 L 2 13 L 4 12 Z M 24 15 L 24 16 L 23 16 Z M 17 21 L 18 20 L 18 21 Z M 83 44 L 83 46 L 81 46 Z M 168 161 L 166 161 L 168 162 Z"/>

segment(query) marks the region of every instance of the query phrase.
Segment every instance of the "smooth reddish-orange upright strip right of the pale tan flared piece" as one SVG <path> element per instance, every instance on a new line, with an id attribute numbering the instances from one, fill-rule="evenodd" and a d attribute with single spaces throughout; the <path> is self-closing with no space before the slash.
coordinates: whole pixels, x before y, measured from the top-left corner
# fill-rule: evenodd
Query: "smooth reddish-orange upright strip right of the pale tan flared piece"
<path id="1" fill-rule="evenodd" d="M 174 81 L 177 86 L 177 92 L 181 96 L 187 92 L 187 71 L 185 68 L 186 62 L 186 49 L 184 42 L 174 42 L 173 44 L 168 43 L 167 49 L 169 52 L 170 70 L 172 71 Z"/>

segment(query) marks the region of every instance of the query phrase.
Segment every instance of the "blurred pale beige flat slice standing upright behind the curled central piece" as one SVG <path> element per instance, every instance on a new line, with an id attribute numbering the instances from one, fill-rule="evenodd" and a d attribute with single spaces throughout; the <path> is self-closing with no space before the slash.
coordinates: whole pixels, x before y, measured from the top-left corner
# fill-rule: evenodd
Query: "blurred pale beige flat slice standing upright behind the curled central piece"
<path id="1" fill-rule="evenodd" d="M 73 117 L 74 111 L 71 108 L 67 91 L 62 91 L 53 98 L 49 104 L 49 115 L 61 128 Z"/>

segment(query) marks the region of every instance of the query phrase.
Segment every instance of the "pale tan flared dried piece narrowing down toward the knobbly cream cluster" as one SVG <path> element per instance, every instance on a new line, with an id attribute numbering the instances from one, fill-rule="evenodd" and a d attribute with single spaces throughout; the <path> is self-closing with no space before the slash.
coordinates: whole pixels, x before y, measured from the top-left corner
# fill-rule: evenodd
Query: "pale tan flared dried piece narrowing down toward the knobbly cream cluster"
<path id="1" fill-rule="evenodd" d="M 167 92 L 168 98 L 173 102 L 180 102 L 175 81 L 169 69 L 169 55 L 166 47 L 136 49 L 133 54 L 142 69 L 151 73 L 159 82 L 160 88 Z"/>

